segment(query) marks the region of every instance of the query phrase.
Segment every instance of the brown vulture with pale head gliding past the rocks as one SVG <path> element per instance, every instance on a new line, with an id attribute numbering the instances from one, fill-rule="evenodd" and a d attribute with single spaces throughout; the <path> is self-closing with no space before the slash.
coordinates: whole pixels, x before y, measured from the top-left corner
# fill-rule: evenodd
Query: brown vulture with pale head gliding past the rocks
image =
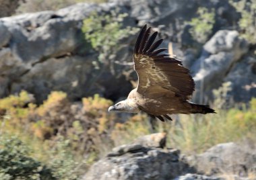
<path id="1" fill-rule="evenodd" d="M 159 120 L 172 120 L 170 114 L 208 114 L 215 113 L 209 105 L 189 101 L 195 83 L 181 60 L 170 54 L 160 54 L 167 50 L 158 48 L 163 39 L 157 40 L 158 32 L 151 36 L 151 27 L 143 26 L 133 51 L 134 70 L 138 84 L 127 99 L 108 108 L 108 111 L 124 111 L 146 114 Z M 158 48 L 158 49 L 157 49 Z"/>

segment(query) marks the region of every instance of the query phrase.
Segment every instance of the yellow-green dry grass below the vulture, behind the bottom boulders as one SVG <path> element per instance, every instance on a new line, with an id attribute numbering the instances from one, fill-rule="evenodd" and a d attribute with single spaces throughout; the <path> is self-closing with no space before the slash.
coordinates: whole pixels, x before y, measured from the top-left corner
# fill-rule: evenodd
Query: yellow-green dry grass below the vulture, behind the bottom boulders
<path id="1" fill-rule="evenodd" d="M 125 144 L 145 134 L 166 132 L 169 147 L 189 154 L 203 152 L 219 143 L 255 139 L 255 108 L 256 99 L 252 99 L 249 108 L 219 109 L 218 114 L 179 115 L 172 117 L 173 122 L 154 123 L 156 130 L 152 130 L 147 116 L 138 115 L 125 124 L 116 124 L 112 138 Z"/>

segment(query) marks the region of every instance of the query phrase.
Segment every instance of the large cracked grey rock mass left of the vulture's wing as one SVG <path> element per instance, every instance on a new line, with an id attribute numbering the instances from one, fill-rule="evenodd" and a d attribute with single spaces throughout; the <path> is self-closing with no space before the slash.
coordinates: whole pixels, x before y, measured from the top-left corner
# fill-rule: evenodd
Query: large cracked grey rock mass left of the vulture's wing
<path id="1" fill-rule="evenodd" d="M 125 96 L 131 83 L 122 75 L 128 66 L 119 66 L 119 76 L 109 70 L 98 77 L 94 69 L 94 56 L 84 50 L 81 32 L 82 21 L 92 11 L 110 11 L 115 5 L 80 3 L 59 11 L 26 13 L 0 19 L 0 97 L 18 93 L 22 89 L 33 93 L 38 103 L 51 91 L 65 91 L 71 99 L 80 99 L 100 93 L 105 97 L 113 94 Z M 120 13 L 125 8 L 119 9 Z M 134 26 L 130 17 L 123 26 Z M 125 43 L 131 42 L 128 38 Z M 78 52 L 82 48 L 83 52 Z M 2 48 L 1 48 L 2 47 Z M 124 46 L 119 60 L 131 54 L 129 45 Z M 122 57 L 122 58 L 120 58 Z M 126 60 L 126 59 L 125 59 Z M 91 82 L 94 81 L 91 87 Z M 115 81 L 114 81 L 115 80 Z M 119 83 L 120 89 L 110 83 Z"/>

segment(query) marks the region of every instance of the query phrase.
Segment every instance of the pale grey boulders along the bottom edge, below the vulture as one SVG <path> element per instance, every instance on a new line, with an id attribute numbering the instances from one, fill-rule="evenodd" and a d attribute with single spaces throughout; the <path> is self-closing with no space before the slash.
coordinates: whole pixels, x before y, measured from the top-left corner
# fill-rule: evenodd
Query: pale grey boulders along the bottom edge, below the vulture
<path id="1" fill-rule="evenodd" d="M 255 146 L 228 142 L 187 156 L 163 146 L 165 138 L 162 133 L 150 134 L 133 144 L 113 148 L 92 165 L 83 179 L 256 179 L 252 176 L 256 173 Z"/>

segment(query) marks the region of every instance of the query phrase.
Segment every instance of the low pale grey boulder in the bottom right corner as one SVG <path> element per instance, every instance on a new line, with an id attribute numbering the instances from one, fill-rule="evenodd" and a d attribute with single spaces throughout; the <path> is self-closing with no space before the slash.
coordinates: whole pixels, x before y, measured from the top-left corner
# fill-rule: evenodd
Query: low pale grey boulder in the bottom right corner
<path id="1" fill-rule="evenodd" d="M 247 144 L 218 144 L 187 160 L 199 173 L 205 175 L 224 173 L 247 177 L 249 173 L 256 173 L 256 150 Z"/>

